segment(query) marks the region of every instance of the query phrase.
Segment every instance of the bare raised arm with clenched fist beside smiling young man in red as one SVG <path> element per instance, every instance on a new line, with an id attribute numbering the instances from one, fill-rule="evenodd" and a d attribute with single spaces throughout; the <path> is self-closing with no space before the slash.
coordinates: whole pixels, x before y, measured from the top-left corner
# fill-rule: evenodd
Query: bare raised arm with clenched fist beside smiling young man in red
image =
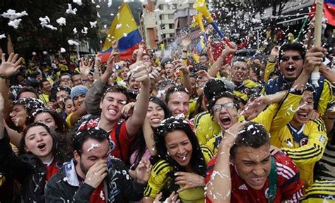
<path id="1" fill-rule="evenodd" d="M 128 138 L 131 139 L 136 135 L 137 130 L 143 125 L 144 118 L 146 118 L 149 104 L 150 80 L 148 70 L 146 70 L 143 61 L 132 64 L 129 69 L 129 73 L 132 74 L 132 77 L 135 78 L 136 81 L 141 82 L 141 89 L 135 102 L 134 113 L 130 116 L 126 124 Z"/>

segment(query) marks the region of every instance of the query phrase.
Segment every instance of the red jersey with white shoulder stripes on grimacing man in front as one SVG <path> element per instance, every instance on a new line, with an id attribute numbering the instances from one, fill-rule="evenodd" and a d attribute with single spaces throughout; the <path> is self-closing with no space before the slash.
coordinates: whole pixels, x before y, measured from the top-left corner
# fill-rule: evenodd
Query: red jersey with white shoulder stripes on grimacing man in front
<path id="1" fill-rule="evenodd" d="M 290 200 L 291 202 L 299 202 L 302 197 L 302 182 L 300 180 L 298 167 L 285 154 L 278 152 L 274 155 L 277 169 L 277 190 L 274 202 Z M 208 163 L 205 183 L 207 184 L 213 173 L 216 157 Z M 232 184 L 232 192 L 230 202 L 269 202 L 269 178 L 266 180 L 261 190 L 254 190 L 249 187 L 240 176 L 238 176 L 235 167 L 230 165 L 230 176 Z M 206 197 L 206 202 L 211 200 Z"/>

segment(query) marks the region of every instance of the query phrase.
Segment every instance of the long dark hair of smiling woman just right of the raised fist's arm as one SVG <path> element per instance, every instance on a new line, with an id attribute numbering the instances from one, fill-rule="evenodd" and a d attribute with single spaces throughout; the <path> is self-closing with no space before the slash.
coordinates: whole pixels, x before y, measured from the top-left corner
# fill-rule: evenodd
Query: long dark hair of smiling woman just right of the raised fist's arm
<path id="1" fill-rule="evenodd" d="M 170 117 L 170 111 L 167 109 L 167 106 L 162 100 L 158 99 L 158 97 L 149 97 L 149 101 L 152 101 L 153 103 L 158 104 L 163 109 L 164 118 Z M 133 154 L 134 152 L 137 151 L 134 164 L 131 167 L 131 168 L 136 168 L 136 166 L 139 165 L 139 161 L 141 161 L 144 153 L 146 153 L 146 140 L 144 140 L 144 134 L 143 134 L 142 128 L 139 130 L 139 133 L 137 133 L 134 141 L 131 143 L 131 147 L 129 150 L 130 150 L 129 154 Z M 128 164 L 130 165 L 130 162 Z"/>

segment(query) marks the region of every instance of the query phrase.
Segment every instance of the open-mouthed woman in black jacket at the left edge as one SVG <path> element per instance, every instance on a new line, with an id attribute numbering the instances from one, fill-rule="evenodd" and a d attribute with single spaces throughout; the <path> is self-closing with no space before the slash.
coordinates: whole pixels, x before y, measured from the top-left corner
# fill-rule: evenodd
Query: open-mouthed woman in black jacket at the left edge
<path id="1" fill-rule="evenodd" d="M 45 202 L 45 183 L 62 166 L 53 130 L 40 122 L 26 126 L 20 140 L 20 156 L 16 156 L 4 124 L 4 99 L 0 94 L 1 171 L 22 184 L 24 202 Z"/>

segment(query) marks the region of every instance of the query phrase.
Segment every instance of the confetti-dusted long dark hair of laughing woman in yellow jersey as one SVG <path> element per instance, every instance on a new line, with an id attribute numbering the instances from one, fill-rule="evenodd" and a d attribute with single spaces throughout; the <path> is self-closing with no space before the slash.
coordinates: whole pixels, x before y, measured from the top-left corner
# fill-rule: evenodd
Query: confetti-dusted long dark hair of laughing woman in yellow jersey
<path id="1" fill-rule="evenodd" d="M 173 171 L 167 174 L 167 184 L 163 187 L 163 196 L 168 197 L 171 192 L 178 189 L 178 185 L 175 185 L 175 172 L 186 171 L 186 167 L 180 166 L 174 159 L 172 159 L 168 153 L 165 146 L 165 136 L 167 133 L 172 133 L 175 130 L 182 130 L 186 133 L 189 141 L 192 144 L 192 157 L 189 161 L 189 166 L 193 173 L 199 176 L 205 176 L 206 173 L 206 162 L 204 155 L 201 152 L 200 145 L 196 135 L 192 130 L 191 124 L 181 118 L 167 118 L 162 124 L 155 130 L 155 147 L 158 151 L 158 156 L 160 159 L 167 161 L 170 166 L 172 166 Z"/>

